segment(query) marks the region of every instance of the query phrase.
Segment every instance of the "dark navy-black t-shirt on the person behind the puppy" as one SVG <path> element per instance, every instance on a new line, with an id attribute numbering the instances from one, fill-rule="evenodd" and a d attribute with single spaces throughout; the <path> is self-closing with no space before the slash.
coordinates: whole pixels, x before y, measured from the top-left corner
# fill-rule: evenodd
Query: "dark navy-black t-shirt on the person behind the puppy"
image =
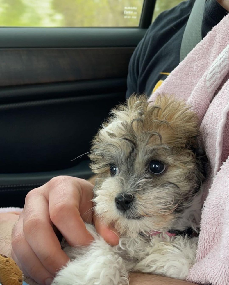
<path id="1" fill-rule="evenodd" d="M 204 1 L 204 0 L 203 0 Z M 164 80 L 180 62 L 180 46 L 194 0 L 162 12 L 136 47 L 129 64 L 128 98 L 133 93 L 150 96 L 159 80 Z M 207 0 L 202 22 L 202 37 L 228 12 L 216 1 Z"/>

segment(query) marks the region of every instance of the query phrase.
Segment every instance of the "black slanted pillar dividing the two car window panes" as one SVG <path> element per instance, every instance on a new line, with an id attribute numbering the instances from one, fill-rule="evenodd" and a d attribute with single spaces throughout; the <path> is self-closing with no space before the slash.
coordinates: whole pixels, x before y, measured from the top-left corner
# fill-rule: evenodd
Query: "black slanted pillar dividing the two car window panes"
<path id="1" fill-rule="evenodd" d="M 153 11 L 157 0 L 144 0 L 139 28 L 148 29 L 152 23 Z"/>

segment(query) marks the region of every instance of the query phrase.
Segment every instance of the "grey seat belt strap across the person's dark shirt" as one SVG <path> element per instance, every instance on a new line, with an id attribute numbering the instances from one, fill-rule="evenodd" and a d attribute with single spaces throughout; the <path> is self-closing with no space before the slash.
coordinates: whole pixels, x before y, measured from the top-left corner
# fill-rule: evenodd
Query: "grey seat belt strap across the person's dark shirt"
<path id="1" fill-rule="evenodd" d="M 180 62 L 202 40 L 202 20 L 205 0 L 196 0 L 190 13 L 180 47 Z"/>

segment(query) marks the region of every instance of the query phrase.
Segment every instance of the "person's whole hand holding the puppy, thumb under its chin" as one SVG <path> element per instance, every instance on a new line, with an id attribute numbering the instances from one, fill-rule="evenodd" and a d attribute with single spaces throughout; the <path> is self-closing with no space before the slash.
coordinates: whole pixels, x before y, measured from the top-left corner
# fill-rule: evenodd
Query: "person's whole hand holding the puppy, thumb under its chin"
<path id="1" fill-rule="evenodd" d="M 49 285 L 68 257 L 61 249 L 54 226 L 71 246 L 88 245 L 93 240 L 84 222 L 91 223 L 93 185 L 70 176 L 54 177 L 30 191 L 24 209 L 12 231 L 12 257 L 28 277 Z M 94 217 L 96 231 L 116 245 L 119 238 Z"/>

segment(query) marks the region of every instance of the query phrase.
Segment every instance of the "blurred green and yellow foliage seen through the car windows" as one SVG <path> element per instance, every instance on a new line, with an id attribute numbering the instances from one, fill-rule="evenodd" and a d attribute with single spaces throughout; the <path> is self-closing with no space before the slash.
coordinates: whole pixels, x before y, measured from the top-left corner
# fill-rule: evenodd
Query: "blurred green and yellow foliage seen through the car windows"
<path id="1" fill-rule="evenodd" d="M 153 18 L 180 1 L 157 0 Z M 0 0 L 0 26 L 134 27 L 142 4 L 143 0 Z"/>

